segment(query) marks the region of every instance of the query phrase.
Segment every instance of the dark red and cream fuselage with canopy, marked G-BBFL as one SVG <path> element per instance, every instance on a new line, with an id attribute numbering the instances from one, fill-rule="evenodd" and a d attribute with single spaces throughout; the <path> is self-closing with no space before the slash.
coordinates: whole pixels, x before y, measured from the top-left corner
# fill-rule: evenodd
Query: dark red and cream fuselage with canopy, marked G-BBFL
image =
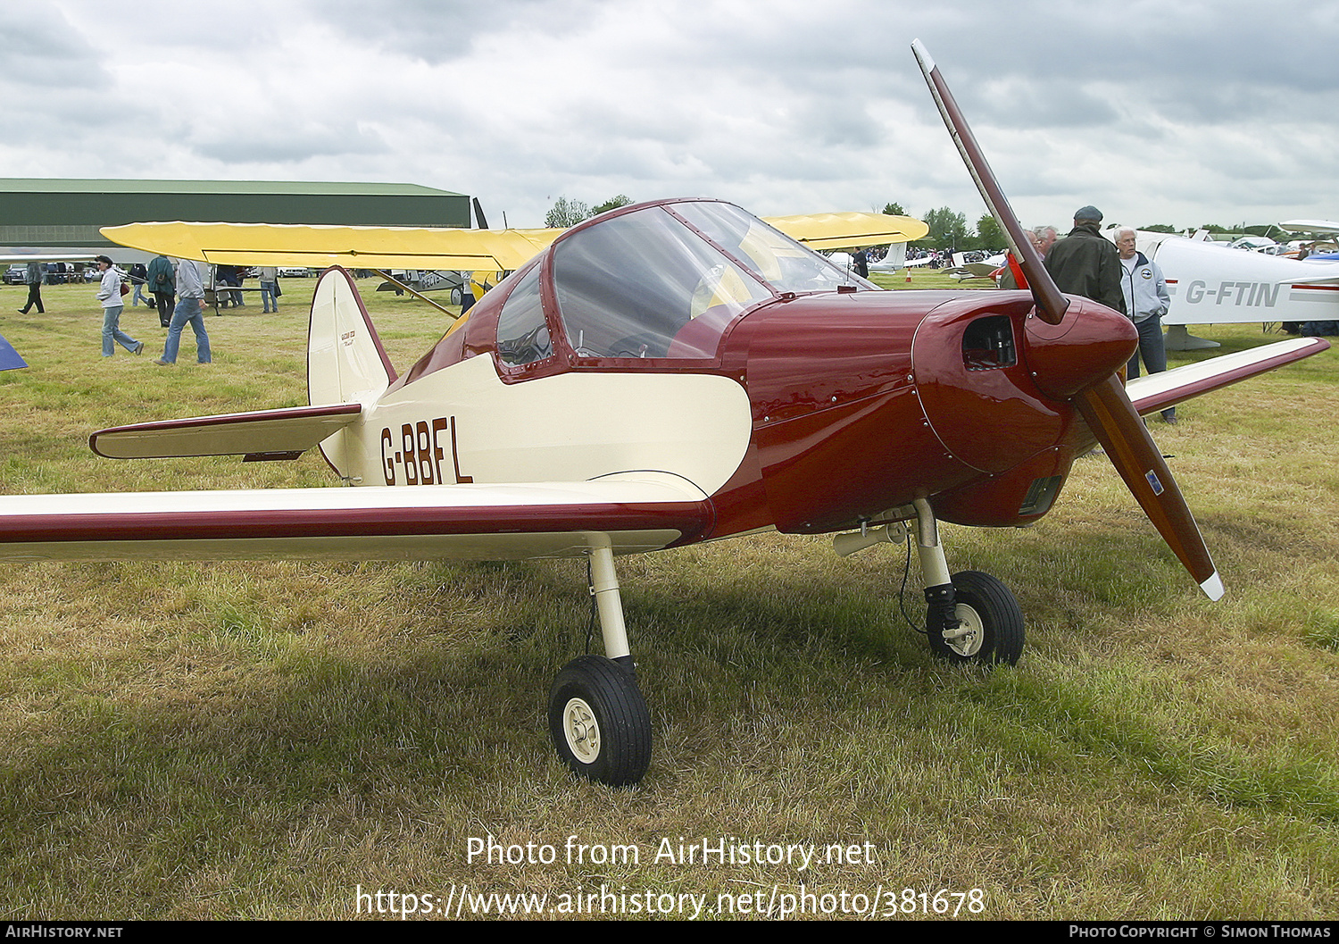
<path id="1" fill-rule="evenodd" d="M 916 498 L 973 525 L 1048 510 L 1091 439 L 1070 375 L 1114 372 L 1127 321 L 1077 303 L 1044 325 L 1022 292 L 884 292 L 735 208 L 703 209 L 627 208 L 556 241 L 364 411 L 349 477 L 668 473 L 711 497 L 704 537 L 830 532 Z M 649 249 L 586 277 L 636 240 Z"/>

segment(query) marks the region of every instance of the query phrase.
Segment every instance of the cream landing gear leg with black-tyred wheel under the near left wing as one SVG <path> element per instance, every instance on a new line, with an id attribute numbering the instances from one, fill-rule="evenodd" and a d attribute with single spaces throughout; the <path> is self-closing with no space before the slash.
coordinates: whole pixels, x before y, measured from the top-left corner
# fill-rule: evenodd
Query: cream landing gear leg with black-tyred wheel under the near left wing
<path id="1" fill-rule="evenodd" d="M 637 688 L 613 550 L 604 534 L 590 536 L 590 593 L 605 655 L 580 656 L 558 672 L 549 690 L 549 734 L 576 775 L 629 786 L 651 763 L 651 712 Z"/>

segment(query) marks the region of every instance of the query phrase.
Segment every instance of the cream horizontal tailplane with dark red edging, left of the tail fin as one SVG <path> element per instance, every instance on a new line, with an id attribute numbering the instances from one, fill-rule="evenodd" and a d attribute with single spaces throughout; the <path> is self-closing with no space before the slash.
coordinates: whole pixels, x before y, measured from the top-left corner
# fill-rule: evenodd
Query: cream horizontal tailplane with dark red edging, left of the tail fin
<path id="1" fill-rule="evenodd" d="M 108 459 L 181 455 L 296 458 L 359 418 L 358 403 L 285 407 L 220 416 L 193 416 L 99 430 L 88 449 Z"/>

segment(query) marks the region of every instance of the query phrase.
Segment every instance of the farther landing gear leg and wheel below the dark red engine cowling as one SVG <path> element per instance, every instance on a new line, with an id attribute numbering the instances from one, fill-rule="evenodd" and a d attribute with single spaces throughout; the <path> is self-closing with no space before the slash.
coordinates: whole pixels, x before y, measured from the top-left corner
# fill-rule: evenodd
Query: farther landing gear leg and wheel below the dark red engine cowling
<path id="1" fill-rule="evenodd" d="M 925 632 L 931 651 L 960 663 L 1016 663 L 1023 653 L 1023 611 L 1018 600 L 988 573 L 963 570 L 949 577 L 939 524 L 929 502 L 919 498 L 904 510 L 915 512 L 911 529 L 896 521 L 858 534 L 838 534 L 833 546 L 845 557 L 881 541 L 901 541 L 915 530 L 925 584 Z"/>

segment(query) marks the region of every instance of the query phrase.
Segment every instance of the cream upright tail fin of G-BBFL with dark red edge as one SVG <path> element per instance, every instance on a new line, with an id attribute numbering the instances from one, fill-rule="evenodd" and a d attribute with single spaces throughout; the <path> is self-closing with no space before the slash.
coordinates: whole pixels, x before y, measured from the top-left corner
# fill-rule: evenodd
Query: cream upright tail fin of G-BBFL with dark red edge
<path id="1" fill-rule="evenodd" d="M 360 403 L 368 407 L 395 380 L 395 368 L 382 348 L 372 319 L 348 272 L 327 269 L 316 283 L 307 335 L 307 396 L 319 403 Z M 349 430 L 321 442 L 325 461 L 348 474 L 345 454 Z"/>

